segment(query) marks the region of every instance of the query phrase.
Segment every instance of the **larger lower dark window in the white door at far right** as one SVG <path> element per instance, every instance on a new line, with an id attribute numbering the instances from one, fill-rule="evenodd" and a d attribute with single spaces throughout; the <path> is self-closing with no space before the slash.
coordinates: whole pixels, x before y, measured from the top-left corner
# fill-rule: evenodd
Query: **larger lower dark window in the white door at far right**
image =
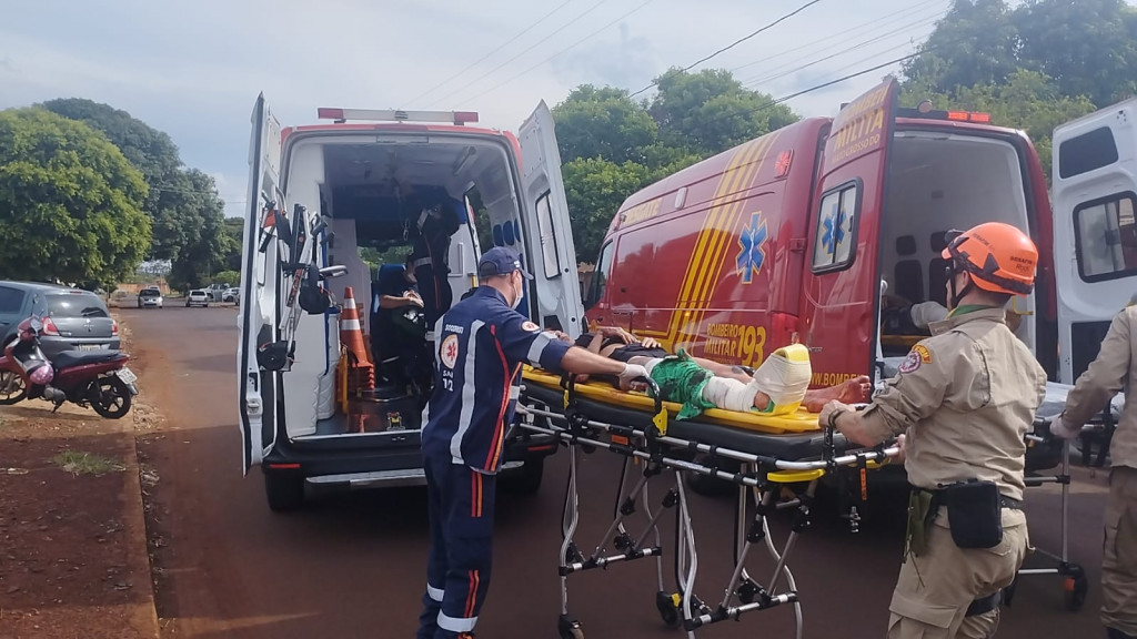
<path id="1" fill-rule="evenodd" d="M 1137 194 L 1099 198 L 1073 209 L 1078 273 L 1087 282 L 1137 273 Z"/>

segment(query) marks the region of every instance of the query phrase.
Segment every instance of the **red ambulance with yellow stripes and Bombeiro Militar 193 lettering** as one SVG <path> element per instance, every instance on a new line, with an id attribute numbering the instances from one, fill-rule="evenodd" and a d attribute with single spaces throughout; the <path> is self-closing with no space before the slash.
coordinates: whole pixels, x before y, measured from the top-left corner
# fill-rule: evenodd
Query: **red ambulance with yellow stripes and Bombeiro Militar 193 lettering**
<path id="1" fill-rule="evenodd" d="M 880 330 L 882 288 L 946 304 L 945 232 L 1001 221 L 1041 252 L 1038 285 L 1012 312 L 1054 374 L 1053 222 L 1034 147 L 985 114 L 896 101 L 889 78 L 835 118 L 803 119 L 628 198 L 601 244 L 588 321 L 748 366 L 800 342 L 813 385 L 890 372 L 921 338 Z"/>

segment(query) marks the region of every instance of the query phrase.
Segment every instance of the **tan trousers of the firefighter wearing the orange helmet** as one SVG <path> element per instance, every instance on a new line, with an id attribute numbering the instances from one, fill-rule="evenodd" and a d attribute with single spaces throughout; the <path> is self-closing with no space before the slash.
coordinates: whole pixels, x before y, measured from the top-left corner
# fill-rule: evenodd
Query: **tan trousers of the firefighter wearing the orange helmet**
<path id="1" fill-rule="evenodd" d="M 988 549 L 962 549 L 940 508 L 928 533 L 928 551 L 908 556 L 889 605 L 889 639 L 989 639 L 998 628 L 998 607 L 964 616 L 968 606 L 1014 581 L 1027 555 L 1027 516 L 1003 509 L 1003 541 Z"/>

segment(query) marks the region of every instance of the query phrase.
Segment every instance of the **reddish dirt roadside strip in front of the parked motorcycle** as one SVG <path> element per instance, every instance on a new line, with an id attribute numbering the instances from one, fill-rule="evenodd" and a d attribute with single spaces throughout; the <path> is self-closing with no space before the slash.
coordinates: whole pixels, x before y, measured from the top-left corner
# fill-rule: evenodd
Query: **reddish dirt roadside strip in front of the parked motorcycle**
<path id="1" fill-rule="evenodd" d="M 0 638 L 158 636 L 135 455 L 156 416 L 135 400 L 122 420 L 0 406 Z"/>

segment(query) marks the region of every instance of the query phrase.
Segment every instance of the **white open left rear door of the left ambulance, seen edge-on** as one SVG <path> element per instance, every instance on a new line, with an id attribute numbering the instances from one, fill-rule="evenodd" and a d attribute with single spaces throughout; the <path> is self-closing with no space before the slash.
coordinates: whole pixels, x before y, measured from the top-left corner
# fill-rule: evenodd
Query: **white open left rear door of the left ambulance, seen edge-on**
<path id="1" fill-rule="evenodd" d="M 244 241 L 241 265 L 241 313 L 238 320 L 238 375 L 242 468 L 244 473 L 260 463 L 275 442 L 274 401 L 266 401 L 264 385 L 272 373 L 260 371 L 257 345 L 274 337 L 276 313 L 276 241 L 263 241 L 274 232 L 267 219 L 266 200 L 279 200 L 281 160 L 281 126 L 268 110 L 262 93 L 252 108 L 252 139 L 249 143 L 249 191 L 244 217 Z M 262 339 L 265 333 L 268 339 Z M 269 395 L 271 397 L 271 395 Z"/>

